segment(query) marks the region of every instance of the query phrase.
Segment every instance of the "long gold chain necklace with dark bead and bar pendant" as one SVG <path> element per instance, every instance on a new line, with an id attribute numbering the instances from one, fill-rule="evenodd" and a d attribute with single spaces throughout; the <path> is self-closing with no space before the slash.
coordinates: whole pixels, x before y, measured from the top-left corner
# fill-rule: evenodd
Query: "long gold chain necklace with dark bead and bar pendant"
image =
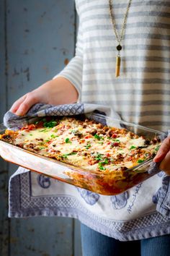
<path id="1" fill-rule="evenodd" d="M 116 28 L 116 23 L 115 23 L 115 17 L 113 15 L 112 12 L 112 0 L 109 0 L 109 16 L 110 16 L 110 20 L 112 21 L 112 25 L 113 25 L 113 30 L 115 32 L 115 37 L 117 40 L 117 58 L 116 58 L 116 69 L 115 69 L 115 77 L 119 77 L 120 76 L 120 63 L 121 63 L 121 58 L 120 58 L 120 51 L 122 50 L 122 46 L 121 46 L 121 42 L 123 39 L 123 36 L 125 34 L 125 26 L 126 26 L 126 22 L 127 22 L 127 18 L 128 18 L 128 12 L 130 9 L 130 5 L 131 5 L 132 0 L 129 0 L 128 2 L 128 6 L 126 8 L 126 12 L 125 12 L 125 16 L 122 22 L 122 27 L 120 30 L 120 34 L 117 32 L 117 28 Z"/>

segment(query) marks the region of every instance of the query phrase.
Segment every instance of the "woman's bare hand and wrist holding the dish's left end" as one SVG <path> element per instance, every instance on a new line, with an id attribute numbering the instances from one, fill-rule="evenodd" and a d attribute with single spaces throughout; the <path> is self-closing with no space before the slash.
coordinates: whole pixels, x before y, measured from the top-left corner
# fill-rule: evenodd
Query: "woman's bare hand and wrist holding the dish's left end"
<path id="1" fill-rule="evenodd" d="M 78 92 L 71 82 L 64 77 L 57 77 L 23 95 L 14 102 L 10 111 L 18 116 L 23 116 L 36 103 L 61 105 L 74 103 L 77 99 Z"/>

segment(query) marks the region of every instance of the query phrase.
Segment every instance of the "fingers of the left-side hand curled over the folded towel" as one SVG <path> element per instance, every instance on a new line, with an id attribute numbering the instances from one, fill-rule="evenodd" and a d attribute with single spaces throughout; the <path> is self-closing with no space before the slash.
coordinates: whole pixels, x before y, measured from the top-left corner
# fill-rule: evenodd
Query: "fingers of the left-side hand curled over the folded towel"
<path id="1" fill-rule="evenodd" d="M 35 96 L 35 93 L 27 93 L 12 105 L 10 111 L 17 116 L 23 116 L 37 102 L 38 98 Z"/>

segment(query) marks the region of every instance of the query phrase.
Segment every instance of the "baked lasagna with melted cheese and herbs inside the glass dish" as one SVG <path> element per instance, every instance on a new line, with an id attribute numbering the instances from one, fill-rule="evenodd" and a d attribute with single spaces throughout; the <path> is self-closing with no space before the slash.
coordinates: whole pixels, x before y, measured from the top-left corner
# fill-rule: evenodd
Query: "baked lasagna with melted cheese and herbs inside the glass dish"
<path id="1" fill-rule="evenodd" d="M 129 183 L 126 187 L 132 187 L 129 170 L 153 158 L 161 145 L 158 137 L 149 140 L 127 129 L 107 127 L 91 119 L 70 116 L 42 118 L 17 131 L 6 129 L 0 139 L 79 167 L 81 172 L 68 171 L 67 175 L 79 187 L 94 190 L 91 187 L 98 186 L 96 192 L 100 192 L 99 187 L 112 186 L 120 180 Z M 94 178 L 94 174 L 97 182 L 91 183 L 89 180 Z"/>

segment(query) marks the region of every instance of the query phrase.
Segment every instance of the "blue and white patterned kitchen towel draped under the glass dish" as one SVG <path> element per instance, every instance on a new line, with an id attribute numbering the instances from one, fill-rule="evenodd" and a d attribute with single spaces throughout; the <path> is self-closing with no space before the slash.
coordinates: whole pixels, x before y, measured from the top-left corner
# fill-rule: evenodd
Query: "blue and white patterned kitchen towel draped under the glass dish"
<path id="1" fill-rule="evenodd" d="M 100 113 L 120 119 L 107 106 L 82 103 L 61 106 L 36 104 L 27 115 L 22 117 L 8 111 L 4 116 L 4 124 L 10 129 L 18 129 L 35 121 L 38 116 L 70 116 L 84 113 L 91 115 Z M 100 121 L 104 121 L 104 119 Z M 160 170 L 153 164 L 150 171 L 158 172 Z M 163 186 L 161 186 L 162 180 Z M 145 199 L 143 193 L 148 193 L 148 188 L 152 196 Z M 141 200 L 143 204 L 151 204 L 150 211 L 157 207 L 159 212 L 168 216 L 170 214 L 167 206 L 169 190 L 169 179 L 164 176 L 163 172 L 159 172 L 143 184 L 129 189 L 128 192 L 117 196 L 103 196 L 19 167 L 9 180 L 9 217 L 68 216 L 79 218 L 92 229 L 112 236 L 115 226 L 117 229 L 121 229 L 122 221 L 120 220 L 122 219 L 125 221 L 131 219 L 135 225 L 134 219 L 141 211 Z M 137 222 L 136 225 L 138 226 Z M 116 230 L 115 237 L 123 239 Z"/>

